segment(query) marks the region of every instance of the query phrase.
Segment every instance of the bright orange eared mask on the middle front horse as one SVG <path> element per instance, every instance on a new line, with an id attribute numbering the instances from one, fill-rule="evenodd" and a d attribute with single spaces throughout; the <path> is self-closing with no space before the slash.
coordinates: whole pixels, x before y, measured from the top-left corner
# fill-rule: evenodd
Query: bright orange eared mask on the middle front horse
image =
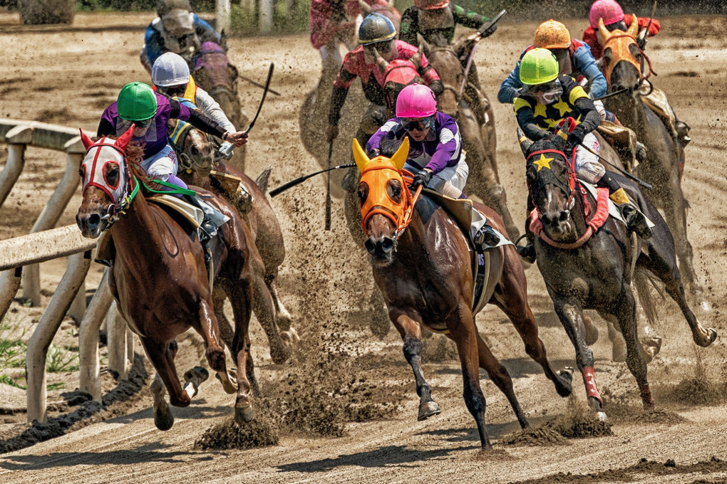
<path id="1" fill-rule="evenodd" d="M 408 155 L 408 138 L 403 139 L 391 158 L 377 156 L 373 159 L 369 159 L 358 140 L 353 139 L 353 159 L 361 171 L 358 199 L 364 234 L 369 234 L 369 219 L 376 214 L 385 216 L 394 223 L 397 238 L 409 226 L 411 210 L 422 189 L 419 187 L 412 197 L 407 188 L 412 179 L 409 172 L 403 171 Z"/>

